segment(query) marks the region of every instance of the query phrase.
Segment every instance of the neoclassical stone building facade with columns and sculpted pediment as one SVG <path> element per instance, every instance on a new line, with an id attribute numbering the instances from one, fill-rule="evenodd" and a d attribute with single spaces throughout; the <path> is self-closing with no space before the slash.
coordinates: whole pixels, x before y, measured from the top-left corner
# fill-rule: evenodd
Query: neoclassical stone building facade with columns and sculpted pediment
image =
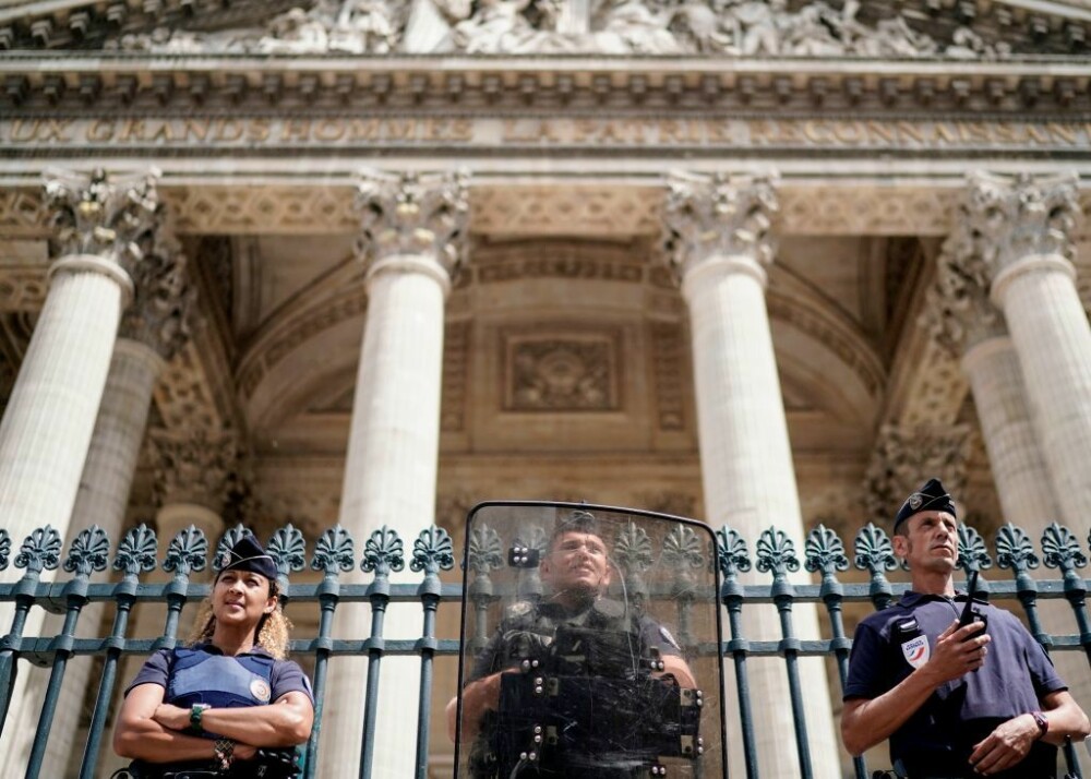
<path id="1" fill-rule="evenodd" d="M 1089 29 L 1076 0 L 4 3 L 0 501 L 457 539 L 480 500 L 587 500 L 799 544 L 938 475 L 982 532 L 1086 537 Z M 356 775 L 351 707 L 321 776 Z"/>

